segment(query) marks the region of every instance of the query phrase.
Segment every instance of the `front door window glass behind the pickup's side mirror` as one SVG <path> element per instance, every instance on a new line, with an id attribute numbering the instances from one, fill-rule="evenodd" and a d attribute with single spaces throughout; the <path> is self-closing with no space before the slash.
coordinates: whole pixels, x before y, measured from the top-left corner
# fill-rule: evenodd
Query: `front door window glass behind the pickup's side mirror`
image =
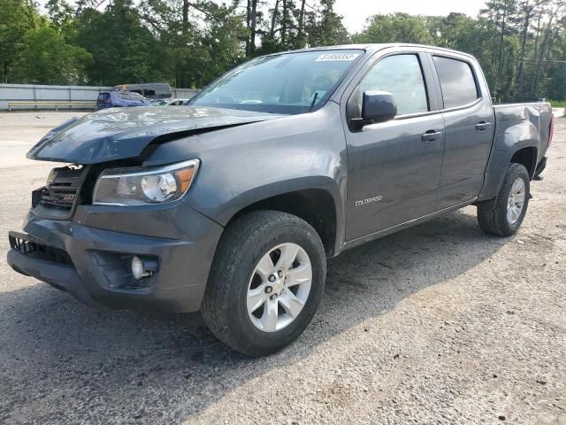
<path id="1" fill-rule="evenodd" d="M 417 55 L 395 55 L 379 60 L 360 82 L 365 91 L 387 91 L 397 102 L 397 113 L 428 112 L 423 71 Z"/>

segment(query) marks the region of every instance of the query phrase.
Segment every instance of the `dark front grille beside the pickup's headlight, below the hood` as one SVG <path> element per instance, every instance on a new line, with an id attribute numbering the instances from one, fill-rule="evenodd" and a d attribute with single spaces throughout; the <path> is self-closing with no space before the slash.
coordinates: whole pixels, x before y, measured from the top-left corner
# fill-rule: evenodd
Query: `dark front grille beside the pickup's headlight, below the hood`
<path id="1" fill-rule="evenodd" d="M 49 182 L 32 193 L 32 207 L 42 217 L 67 220 L 80 203 L 88 166 L 62 166 L 51 171 Z"/>

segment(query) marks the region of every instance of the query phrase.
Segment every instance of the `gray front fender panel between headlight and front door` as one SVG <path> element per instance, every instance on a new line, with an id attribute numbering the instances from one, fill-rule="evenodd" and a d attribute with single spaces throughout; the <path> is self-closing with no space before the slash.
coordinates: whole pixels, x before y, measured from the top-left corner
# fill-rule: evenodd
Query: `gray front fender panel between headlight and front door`
<path id="1" fill-rule="evenodd" d="M 199 158 L 201 166 L 183 202 L 221 226 L 249 205 L 304 189 L 324 189 L 344 221 L 348 161 L 338 104 L 182 138 L 157 147 L 147 163 Z M 343 238 L 339 230 L 336 240 Z"/>

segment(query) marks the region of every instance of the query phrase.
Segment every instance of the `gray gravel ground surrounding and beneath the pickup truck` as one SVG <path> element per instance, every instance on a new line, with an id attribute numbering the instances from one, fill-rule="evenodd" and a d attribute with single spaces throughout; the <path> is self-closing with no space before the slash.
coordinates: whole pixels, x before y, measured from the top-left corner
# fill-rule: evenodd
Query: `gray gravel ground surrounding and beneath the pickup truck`
<path id="1" fill-rule="evenodd" d="M 65 113 L 0 114 L 0 255 Z M 41 117 L 41 118 L 38 118 Z M 304 335 L 265 359 L 198 314 L 99 313 L 0 270 L 0 423 L 566 424 L 566 120 L 515 237 L 468 207 L 330 261 Z"/>

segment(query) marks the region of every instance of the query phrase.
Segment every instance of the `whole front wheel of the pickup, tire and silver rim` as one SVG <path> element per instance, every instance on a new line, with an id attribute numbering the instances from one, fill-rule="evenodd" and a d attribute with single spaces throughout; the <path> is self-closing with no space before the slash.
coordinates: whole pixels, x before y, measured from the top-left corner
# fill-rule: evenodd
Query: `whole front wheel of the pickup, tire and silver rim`
<path id="1" fill-rule="evenodd" d="M 325 286 L 325 249 L 300 218 L 249 213 L 226 228 L 201 312 L 211 332 L 237 352 L 262 356 L 308 326 Z"/>

